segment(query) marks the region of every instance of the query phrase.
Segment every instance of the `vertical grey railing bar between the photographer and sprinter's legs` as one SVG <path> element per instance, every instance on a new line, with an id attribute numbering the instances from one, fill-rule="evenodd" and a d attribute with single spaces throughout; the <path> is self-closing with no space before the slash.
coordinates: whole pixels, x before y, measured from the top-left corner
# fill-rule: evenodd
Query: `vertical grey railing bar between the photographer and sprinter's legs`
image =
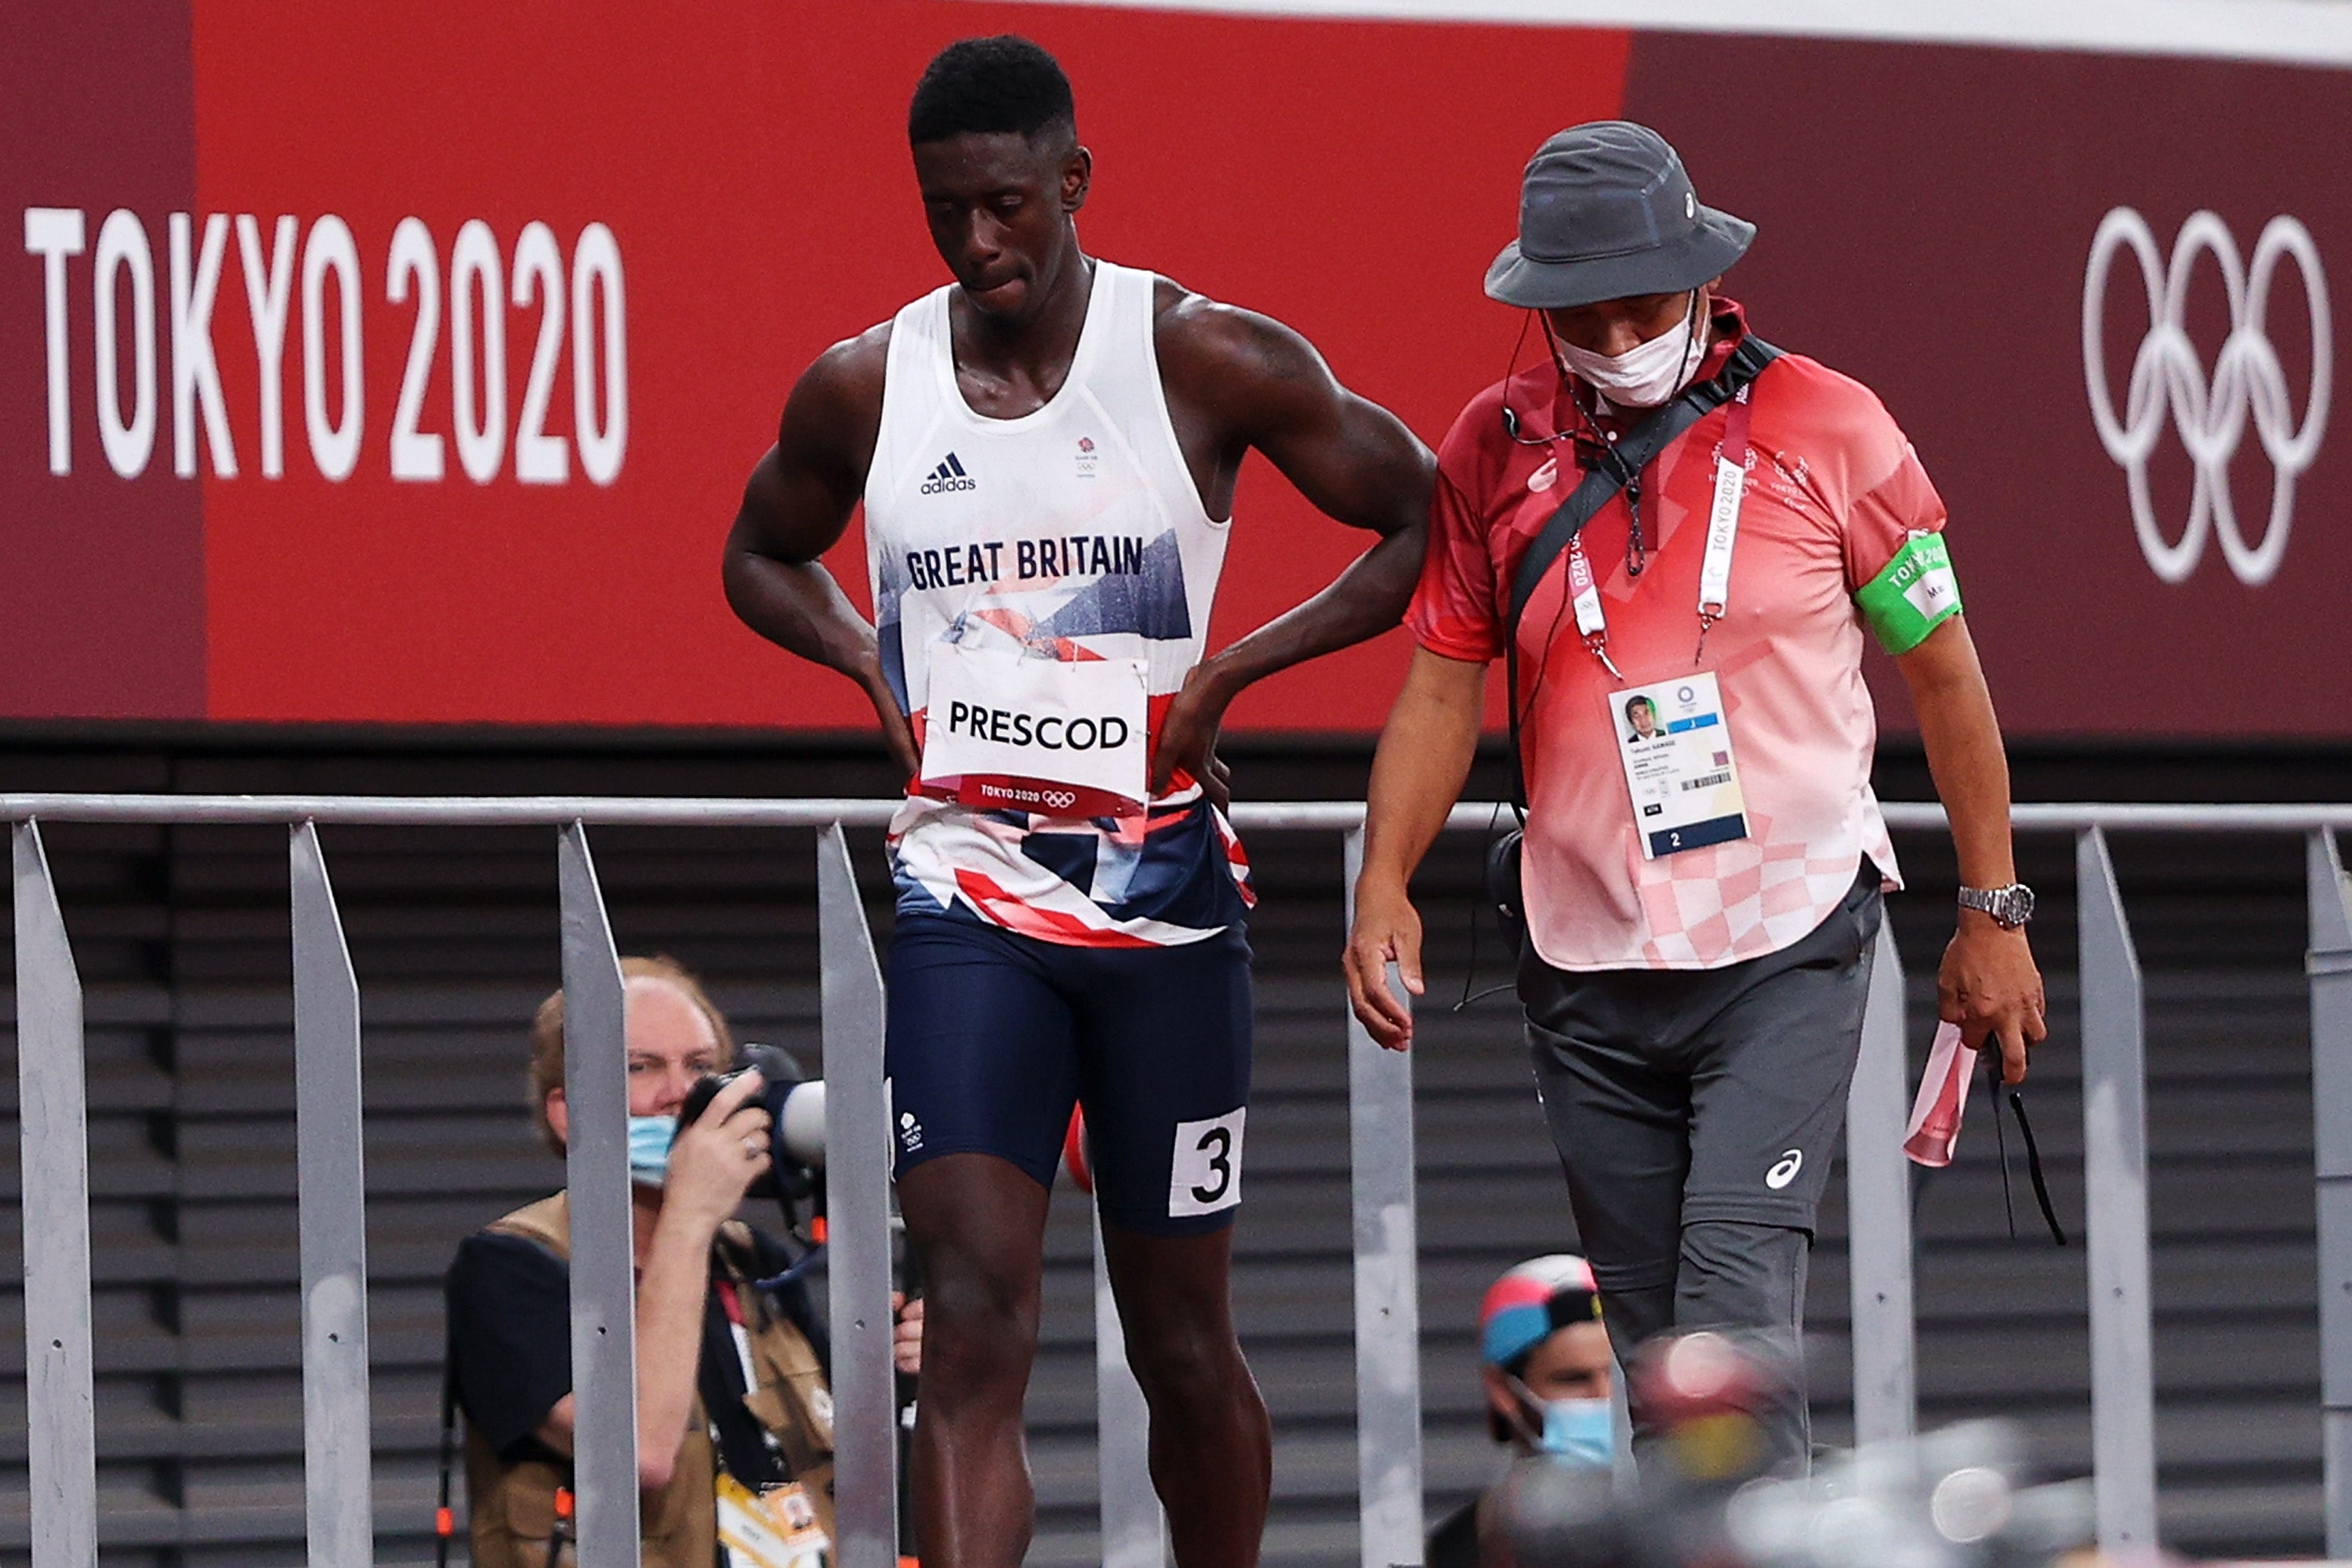
<path id="1" fill-rule="evenodd" d="M 898 1420 L 891 1382 L 889 1168 L 882 969 L 849 839 L 816 837 L 826 1037 L 826 1281 L 833 1321 L 835 1568 L 898 1563 Z"/>

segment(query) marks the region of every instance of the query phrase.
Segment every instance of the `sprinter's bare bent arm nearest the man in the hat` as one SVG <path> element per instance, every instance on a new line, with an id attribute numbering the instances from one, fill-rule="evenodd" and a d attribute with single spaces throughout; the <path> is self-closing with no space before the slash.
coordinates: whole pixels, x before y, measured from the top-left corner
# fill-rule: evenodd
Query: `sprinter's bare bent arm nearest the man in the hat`
<path id="1" fill-rule="evenodd" d="M 1343 388 L 1312 343 L 1254 310 L 1162 280 L 1157 350 L 1176 440 L 1211 517 L 1232 512 L 1235 477 L 1256 449 L 1329 517 L 1381 536 L 1312 599 L 1185 679 L 1152 752 L 1152 790 L 1178 766 L 1216 790 L 1216 726 L 1244 686 L 1378 637 L 1404 616 L 1437 461 L 1404 421 Z"/>

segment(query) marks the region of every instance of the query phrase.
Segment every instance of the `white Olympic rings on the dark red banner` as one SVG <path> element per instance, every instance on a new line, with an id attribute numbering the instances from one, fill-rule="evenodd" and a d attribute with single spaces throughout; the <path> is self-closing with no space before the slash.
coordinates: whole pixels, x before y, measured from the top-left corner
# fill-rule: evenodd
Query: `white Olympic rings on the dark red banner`
<path id="1" fill-rule="evenodd" d="M 2114 395 L 2107 388 L 2105 310 L 2107 268 L 2124 247 L 2138 259 L 2140 282 L 2147 287 L 2147 336 L 2131 360 L 2124 416 L 2117 418 Z M 2190 273 L 2204 252 L 2213 254 L 2230 294 L 2230 336 L 2213 362 L 2211 381 L 2185 324 Z M 2312 388 L 2300 425 L 2286 400 L 2286 371 L 2270 343 L 2270 282 L 2286 256 L 2293 256 L 2303 273 L 2312 315 Z M 2157 576 L 2180 583 L 2197 571 L 2206 534 L 2218 534 L 2223 559 L 2239 583 L 2260 588 L 2277 576 L 2296 508 L 2296 480 L 2319 456 L 2319 437 L 2328 423 L 2333 339 L 2328 284 L 2319 270 L 2312 233 L 2296 219 L 2277 216 L 2263 226 L 2253 244 L 2253 266 L 2246 266 L 2230 226 L 2211 212 L 2192 212 L 2173 240 L 2166 266 L 2157 256 L 2147 219 L 2131 207 L 2117 207 L 2100 219 L 2091 237 L 2091 263 L 2084 268 L 2082 369 L 2091 393 L 2091 423 L 2098 425 L 2100 447 L 2124 468 L 2131 487 L 2131 527 Z M 2197 473 L 2190 520 L 2173 543 L 2166 543 L 2147 494 L 2147 458 L 2164 435 L 2166 414 Z M 2230 461 L 2246 435 L 2249 416 L 2272 468 L 2270 522 L 2258 545 L 2246 543 L 2230 498 Z"/>

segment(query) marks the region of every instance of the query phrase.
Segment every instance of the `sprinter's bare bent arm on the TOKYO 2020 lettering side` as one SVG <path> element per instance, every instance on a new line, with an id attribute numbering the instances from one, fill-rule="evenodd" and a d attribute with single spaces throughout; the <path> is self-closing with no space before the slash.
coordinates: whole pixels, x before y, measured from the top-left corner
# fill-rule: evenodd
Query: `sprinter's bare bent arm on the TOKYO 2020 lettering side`
<path id="1" fill-rule="evenodd" d="M 866 491 L 882 428 L 889 327 L 873 327 L 816 357 L 783 404 L 776 444 L 750 470 L 727 534 L 727 602 L 769 642 L 840 670 L 875 705 L 891 759 L 922 762 L 898 698 L 882 679 L 875 628 L 816 559 L 840 541 Z"/>

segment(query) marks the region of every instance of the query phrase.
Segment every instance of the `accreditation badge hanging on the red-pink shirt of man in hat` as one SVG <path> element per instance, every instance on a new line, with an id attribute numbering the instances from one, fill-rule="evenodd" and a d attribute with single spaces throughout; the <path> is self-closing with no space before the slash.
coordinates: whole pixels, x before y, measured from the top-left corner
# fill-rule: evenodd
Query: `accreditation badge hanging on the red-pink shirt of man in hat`
<path id="1" fill-rule="evenodd" d="M 1642 858 L 1748 837 L 1731 724 L 1712 670 L 1609 693 Z"/>

